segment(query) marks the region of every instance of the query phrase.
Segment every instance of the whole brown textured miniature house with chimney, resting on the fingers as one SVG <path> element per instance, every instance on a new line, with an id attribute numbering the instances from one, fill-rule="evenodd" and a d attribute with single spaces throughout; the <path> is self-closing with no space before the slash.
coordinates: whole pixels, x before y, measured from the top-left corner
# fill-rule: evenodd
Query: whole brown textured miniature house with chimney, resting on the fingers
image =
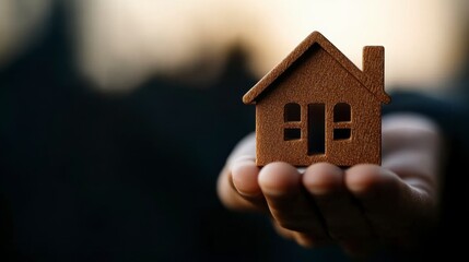
<path id="1" fill-rule="evenodd" d="M 384 47 L 363 49 L 363 71 L 313 32 L 243 97 L 256 105 L 256 163 L 380 164 Z"/>

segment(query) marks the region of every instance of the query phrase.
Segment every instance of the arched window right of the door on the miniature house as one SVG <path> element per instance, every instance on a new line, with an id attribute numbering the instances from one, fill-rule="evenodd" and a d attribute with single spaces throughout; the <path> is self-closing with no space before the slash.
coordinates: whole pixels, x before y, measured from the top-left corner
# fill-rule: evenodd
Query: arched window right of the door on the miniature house
<path id="1" fill-rule="evenodd" d="M 333 140 L 352 136 L 352 110 L 349 104 L 339 103 L 333 107 Z"/>

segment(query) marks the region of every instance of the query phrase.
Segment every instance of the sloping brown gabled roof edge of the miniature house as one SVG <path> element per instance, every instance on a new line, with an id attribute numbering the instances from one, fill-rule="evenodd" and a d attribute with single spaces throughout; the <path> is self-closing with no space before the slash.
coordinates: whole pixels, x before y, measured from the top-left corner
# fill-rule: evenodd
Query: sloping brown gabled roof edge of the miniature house
<path id="1" fill-rule="evenodd" d="M 333 46 L 319 32 L 313 32 L 306 37 L 285 59 L 267 73 L 255 86 L 253 86 L 244 96 L 243 103 L 254 104 L 258 96 L 265 92 L 280 75 L 282 75 L 303 53 L 310 47 L 318 44 L 328 52 L 337 62 L 339 62 L 351 75 L 353 75 L 373 96 L 382 103 L 389 103 L 390 97 L 384 92 L 383 87 L 372 88 L 376 85 L 372 78 L 360 70 L 350 61 L 336 46 Z"/>

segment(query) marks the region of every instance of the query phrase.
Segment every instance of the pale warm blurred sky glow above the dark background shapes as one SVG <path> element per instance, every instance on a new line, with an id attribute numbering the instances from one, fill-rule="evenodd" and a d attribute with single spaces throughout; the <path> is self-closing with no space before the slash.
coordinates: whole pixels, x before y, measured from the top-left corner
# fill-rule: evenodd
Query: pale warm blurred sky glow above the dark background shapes
<path id="1" fill-rule="evenodd" d="M 39 24 L 37 19 L 17 15 L 13 2 L 0 2 L 0 60 L 3 61 L 22 46 L 26 33 L 35 32 L 24 28 Z M 33 3 L 50 0 L 21 2 L 35 7 L 32 10 L 44 10 Z M 68 3 L 75 8 L 71 9 L 74 15 L 70 19 L 75 25 L 75 50 L 84 75 L 102 91 L 131 91 L 151 76 L 177 76 L 188 69 L 198 70 L 199 76 L 213 78 L 235 45 L 248 52 L 250 68 L 261 78 L 313 31 L 321 32 L 359 67 L 363 46 L 385 46 L 387 88 L 397 85 L 431 88 L 450 79 L 466 58 L 467 2 L 81 0 Z"/>

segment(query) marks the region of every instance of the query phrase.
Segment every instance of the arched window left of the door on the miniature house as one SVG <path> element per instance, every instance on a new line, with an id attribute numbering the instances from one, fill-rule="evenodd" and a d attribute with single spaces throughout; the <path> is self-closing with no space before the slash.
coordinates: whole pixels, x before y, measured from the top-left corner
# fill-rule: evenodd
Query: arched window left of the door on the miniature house
<path id="1" fill-rule="evenodd" d="M 300 140 L 302 130 L 300 128 L 302 119 L 302 109 L 296 103 L 289 103 L 283 108 L 283 120 L 285 122 L 283 129 L 283 140 Z"/>

